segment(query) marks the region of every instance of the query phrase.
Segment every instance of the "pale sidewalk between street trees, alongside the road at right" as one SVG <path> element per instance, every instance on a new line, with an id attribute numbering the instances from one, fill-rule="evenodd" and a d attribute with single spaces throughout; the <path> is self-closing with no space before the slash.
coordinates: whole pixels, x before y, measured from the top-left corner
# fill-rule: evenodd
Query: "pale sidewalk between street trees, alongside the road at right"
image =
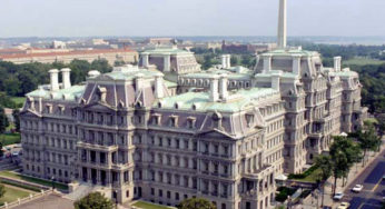
<path id="1" fill-rule="evenodd" d="M 378 157 L 378 155 L 381 155 L 383 151 L 385 150 L 385 146 L 383 145 L 381 148 L 379 152 L 368 152 L 367 157 L 366 157 L 366 162 L 365 166 L 363 166 L 363 162 L 358 162 L 355 163 L 352 169 L 351 172 L 347 177 L 347 180 L 345 182 L 345 186 L 343 186 L 343 179 L 337 179 L 337 188 L 336 188 L 336 192 L 339 191 L 344 191 L 346 189 L 346 187 L 349 186 L 349 183 L 355 180 L 356 177 L 358 177 L 365 169 L 367 166 L 369 166 L 374 159 L 376 159 Z M 327 181 L 325 182 L 325 191 L 324 191 L 324 206 L 332 206 L 332 208 L 337 207 L 340 202 L 335 202 L 333 200 L 333 193 L 332 193 L 332 187 L 334 183 L 334 178 L 330 177 L 329 179 L 327 179 Z M 318 207 L 320 208 L 320 202 L 322 202 L 322 196 L 318 196 Z M 314 209 L 316 208 L 317 205 L 317 199 L 315 198 L 307 198 L 304 200 L 302 206 L 298 206 L 296 208 L 300 208 L 300 209 Z"/>

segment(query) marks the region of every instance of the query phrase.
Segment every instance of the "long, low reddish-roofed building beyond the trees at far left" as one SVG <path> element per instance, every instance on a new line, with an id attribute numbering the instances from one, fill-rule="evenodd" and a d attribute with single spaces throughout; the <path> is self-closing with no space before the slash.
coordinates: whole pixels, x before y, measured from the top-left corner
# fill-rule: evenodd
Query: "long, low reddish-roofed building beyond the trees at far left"
<path id="1" fill-rule="evenodd" d="M 13 50 L 0 50 L 0 61 L 10 61 L 13 63 L 69 63 L 75 59 L 87 60 L 89 62 L 92 62 L 93 60 L 105 59 L 110 64 L 113 64 L 115 61 L 124 61 L 127 63 L 134 63 L 138 61 L 138 53 L 130 49 L 28 49 L 14 50 L 14 53 L 10 53 L 11 51 Z"/>

